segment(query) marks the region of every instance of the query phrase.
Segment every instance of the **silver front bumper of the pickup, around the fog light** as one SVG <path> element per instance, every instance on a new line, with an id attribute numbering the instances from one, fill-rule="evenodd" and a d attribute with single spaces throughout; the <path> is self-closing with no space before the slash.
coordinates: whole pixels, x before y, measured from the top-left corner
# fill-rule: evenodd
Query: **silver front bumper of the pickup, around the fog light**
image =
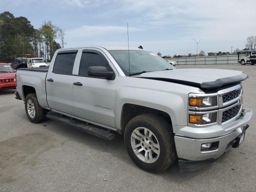
<path id="1" fill-rule="evenodd" d="M 244 110 L 244 112 L 245 114 L 242 118 L 225 126 L 226 130 L 231 130 L 231 132 L 218 137 L 204 139 L 202 138 L 202 135 L 208 135 L 206 132 L 202 132 L 201 136 L 200 133 L 198 133 L 197 138 L 190 138 L 176 134 L 174 136 L 174 140 L 178 158 L 190 161 L 201 161 L 217 159 L 222 156 L 222 154 L 232 147 L 230 147 L 231 142 L 234 141 L 243 131 L 245 131 L 244 129 L 250 122 L 252 118 L 252 110 L 247 109 Z M 227 128 L 227 126 L 230 127 Z M 195 128 L 191 127 L 190 129 L 193 130 Z M 210 130 L 211 132 L 213 131 L 212 129 Z M 216 131 L 218 131 L 218 129 Z M 213 133 L 212 135 L 215 134 Z M 210 142 L 219 142 L 218 148 L 212 151 L 201 151 L 202 144 Z"/>

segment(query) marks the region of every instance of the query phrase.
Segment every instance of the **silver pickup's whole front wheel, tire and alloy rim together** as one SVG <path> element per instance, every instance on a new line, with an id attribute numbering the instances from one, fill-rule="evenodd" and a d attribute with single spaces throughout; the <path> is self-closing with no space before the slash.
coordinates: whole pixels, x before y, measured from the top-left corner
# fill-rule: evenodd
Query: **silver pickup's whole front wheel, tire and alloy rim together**
<path id="1" fill-rule="evenodd" d="M 148 172 L 162 172 L 176 160 L 171 125 L 154 114 L 142 114 L 130 120 L 124 132 L 124 144 L 130 158 Z"/>

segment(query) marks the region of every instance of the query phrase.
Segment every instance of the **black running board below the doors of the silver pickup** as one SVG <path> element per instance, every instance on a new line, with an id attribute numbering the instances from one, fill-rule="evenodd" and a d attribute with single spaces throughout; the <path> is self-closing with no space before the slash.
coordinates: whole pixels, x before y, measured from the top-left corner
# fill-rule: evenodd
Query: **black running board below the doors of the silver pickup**
<path id="1" fill-rule="evenodd" d="M 76 129 L 82 130 L 82 131 L 84 131 L 88 134 L 92 134 L 96 137 L 100 137 L 100 138 L 105 139 L 105 140 L 112 140 L 116 136 L 114 133 L 110 133 L 106 130 L 103 130 L 103 129 L 98 128 L 98 127 L 94 127 L 90 124 L 87 124 L 86 122 L 83 122 L 83 121 L 80 121 L 80 120 L 75 120 L 74 118 L 70 118 L 68 116 L 62 116 L 58 113 L 47 114 L 46 117 L 48 119 L 70 125 L 70 126 L 76 128 Z"/>

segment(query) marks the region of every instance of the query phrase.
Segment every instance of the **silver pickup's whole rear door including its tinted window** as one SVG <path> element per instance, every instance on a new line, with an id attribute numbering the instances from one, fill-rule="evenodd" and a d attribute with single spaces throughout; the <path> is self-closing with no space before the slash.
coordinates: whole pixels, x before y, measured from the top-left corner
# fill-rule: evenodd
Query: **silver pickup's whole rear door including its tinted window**
<path id="1" fill-rule="evenodd" d="M 78 50 L 59 51 L 54 65 L 46 77 L 46 94 L 48 106 L 67 114 L 73 114 L 72 85 L 73 71 Z"/>

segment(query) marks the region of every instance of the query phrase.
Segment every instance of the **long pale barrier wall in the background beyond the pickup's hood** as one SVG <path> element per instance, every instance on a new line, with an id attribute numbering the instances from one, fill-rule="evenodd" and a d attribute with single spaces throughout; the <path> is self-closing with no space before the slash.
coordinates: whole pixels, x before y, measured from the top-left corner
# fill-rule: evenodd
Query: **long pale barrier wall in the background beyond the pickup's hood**
<path id="1" fill-rule="evenodd" d="M 240 55 L 241 58 L 244 55 Z M 176 61 L 178 65 L 203 65 L 203 64 L 238 64 L 237 55 L 209 56 L 209 57 L 182 57 L 168 58 L 165 60 Z"/>

